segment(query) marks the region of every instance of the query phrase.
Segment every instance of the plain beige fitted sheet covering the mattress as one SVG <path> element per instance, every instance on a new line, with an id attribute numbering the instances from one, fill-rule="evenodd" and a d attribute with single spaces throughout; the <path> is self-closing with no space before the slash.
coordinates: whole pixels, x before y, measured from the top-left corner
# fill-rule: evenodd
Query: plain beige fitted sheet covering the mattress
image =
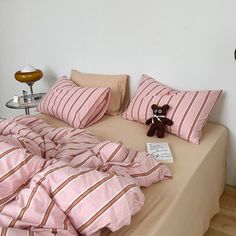
<path id="1" fill-rule="evenodd" d="M 55 126 L 68 126 L 45 114 L 37 117 Z M 148 127 L 119 116 L 104 116 L 88 128 L 100 139 L 122 141 L 127 147 L 146 150 L 146 142 L 160 141 L 147 137 Z M 130 225 L 102 235 L 202 236 L 210 219 L 219 212 L 219 197 L 225 181 L 225 153 L 228 132 L 224 126 L 207 123 L 199 145 L 166 134 L 174 163 L 168 164 L 173 178 L 143 188 L 145 204 L 132 217 Z"/>

